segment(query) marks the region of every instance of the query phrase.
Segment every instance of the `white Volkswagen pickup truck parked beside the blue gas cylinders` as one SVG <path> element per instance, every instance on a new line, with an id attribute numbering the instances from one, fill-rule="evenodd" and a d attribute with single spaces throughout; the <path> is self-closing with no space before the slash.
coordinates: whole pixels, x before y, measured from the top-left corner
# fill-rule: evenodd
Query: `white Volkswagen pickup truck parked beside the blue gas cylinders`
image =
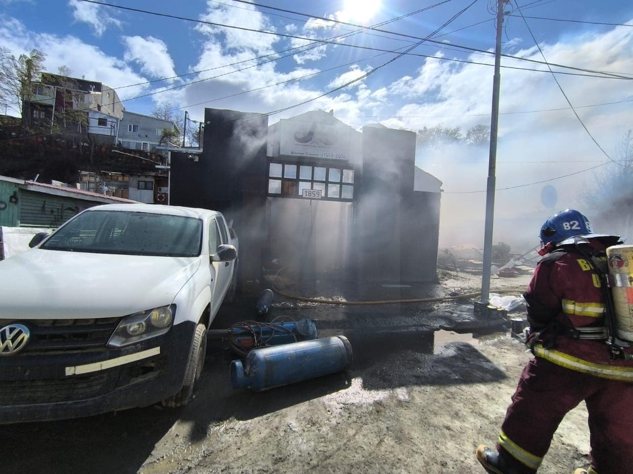
<path id="1" fill-rule="evenodd" d="M 0 262 L 0 423 L 186 404 L 237 272 L 220 212 L 111 204 Z"/>

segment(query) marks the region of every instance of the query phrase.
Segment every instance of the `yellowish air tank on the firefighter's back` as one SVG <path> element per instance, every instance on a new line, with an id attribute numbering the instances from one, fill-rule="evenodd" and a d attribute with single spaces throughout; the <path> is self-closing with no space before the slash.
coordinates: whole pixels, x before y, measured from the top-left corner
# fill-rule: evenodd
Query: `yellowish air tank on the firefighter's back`
<path id="1" fill-rule="evenodd" d="M 606 249 L 618 339 L 633 343 L 633 245 Z"/>

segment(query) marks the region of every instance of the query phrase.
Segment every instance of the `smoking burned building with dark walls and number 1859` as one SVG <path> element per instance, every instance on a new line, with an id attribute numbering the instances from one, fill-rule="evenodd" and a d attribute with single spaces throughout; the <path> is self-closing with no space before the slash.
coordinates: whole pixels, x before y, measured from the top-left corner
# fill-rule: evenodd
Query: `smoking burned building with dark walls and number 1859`
<path id="1" fill-rule="evenodd" d="M 441 182 L 415 167 L 415 133 L 361 131 L 311 111 L 206 109 L 203 152 L 172 152 L 171 204 L 222 211 L 240 239 L 242 288 L 262 272 L 303 284 L 436 280 Z"/>

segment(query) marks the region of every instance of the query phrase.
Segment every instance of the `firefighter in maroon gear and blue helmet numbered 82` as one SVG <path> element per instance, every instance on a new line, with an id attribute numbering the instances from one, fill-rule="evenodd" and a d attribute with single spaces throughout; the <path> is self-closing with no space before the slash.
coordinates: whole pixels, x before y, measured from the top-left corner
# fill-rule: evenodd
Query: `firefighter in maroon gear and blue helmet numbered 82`
<path id="1" fill-rule="evenodd" d="M 534 358 L 496 450 L 480 445 L 477 459 L 489 473 L 536 473 L 558 423 L 584 401 L 591 467 L 576 474 L 633 473 L 633 348 L 605 344 L 613 321 L 605 249 L 620 238 L 592 233 L 587 217 L 567 209 L 545 221 L 541 241 L 544 258 L 523 294 Z"/>

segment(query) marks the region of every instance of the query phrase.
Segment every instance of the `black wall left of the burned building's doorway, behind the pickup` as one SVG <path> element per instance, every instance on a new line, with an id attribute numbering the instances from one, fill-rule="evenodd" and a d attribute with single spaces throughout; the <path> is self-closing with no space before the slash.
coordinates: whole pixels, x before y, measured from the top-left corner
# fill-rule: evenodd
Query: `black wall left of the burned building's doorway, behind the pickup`
<path id="1" fill-rule="evenodd" d="M 219 210 L 240 242 L 241 291 L 260 291 L 268 116 L 205 109 L 203 154 L 172 153 L 170 204 Z"/>

